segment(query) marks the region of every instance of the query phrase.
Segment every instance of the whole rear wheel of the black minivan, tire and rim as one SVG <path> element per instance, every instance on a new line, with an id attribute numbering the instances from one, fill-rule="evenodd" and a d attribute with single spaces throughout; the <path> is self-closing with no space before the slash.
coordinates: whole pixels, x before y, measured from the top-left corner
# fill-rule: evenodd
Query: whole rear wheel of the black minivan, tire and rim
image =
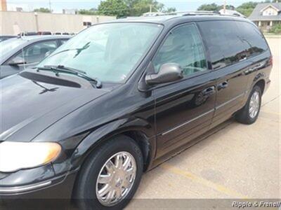
<path id="1" fill-rule="evenodd" d="M 255 101 L 256 98 L 259 99 L 259 102 L 252 101 L 252 99 L 254 99 Z M 235 115 L 235 119 L 239 123 L 251 125 L 255 123 L 256 119 L 259 117 L 260 110 L 261 110 L 261 87 L 256 85 L 254 86 L 253 90 L 251 90 L 251 93 L 249 94 L 247 104 L 240 111 L 238 111 L 238 113 Z"/>

